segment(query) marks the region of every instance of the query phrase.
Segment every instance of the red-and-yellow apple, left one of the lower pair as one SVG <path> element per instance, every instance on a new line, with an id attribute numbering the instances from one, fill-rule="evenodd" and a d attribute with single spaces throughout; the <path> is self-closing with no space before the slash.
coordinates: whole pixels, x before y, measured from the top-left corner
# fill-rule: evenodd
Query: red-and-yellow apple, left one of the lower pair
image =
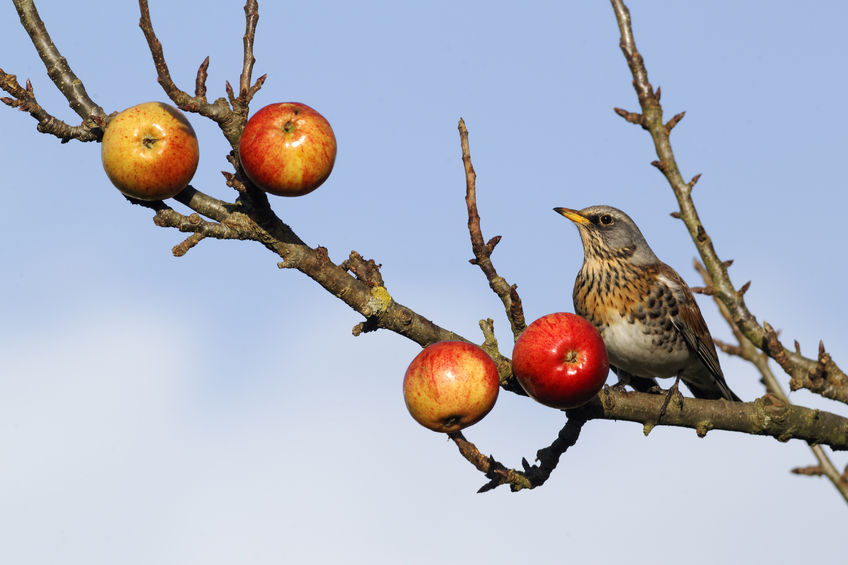
<path id="1" fill-rule="evenodd" d="M 457 432 L 479 422 L 495 405 L 499 390 L 495 362 L 463 341 L 425 347 L 403 377 L 409 413 L 436 432 Z"/>

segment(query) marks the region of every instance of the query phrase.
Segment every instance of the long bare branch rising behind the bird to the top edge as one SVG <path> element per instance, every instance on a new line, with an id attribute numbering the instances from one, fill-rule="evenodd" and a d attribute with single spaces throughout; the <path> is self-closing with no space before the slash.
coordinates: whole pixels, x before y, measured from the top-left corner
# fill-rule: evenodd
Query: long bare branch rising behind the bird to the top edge
<path id="1" fill-rule="evenodd" d="M 744 292 L 738 292 L 733 286 L 727 272 L 728 265 L 719 259 L 712 239 L 707 235 L 692 200 L 692 189 L 697 177 L 687 183 L 683 180 L 677 166 L 669 139 L 671 127 L 667 127 L 667 124 L 663 123 L 660 91 L 657 89 L 654 92 L 648 80 L 645 62 L 636 48 L 630 11 L 622 0 L 610 1 L 621 34 L 621 51 L 633 75 L 633 88 L 636 90 L 642 109 L 641 114 L 632 114 L 620 109 L 616 109 L 616 113 L 625 117 L 629 122 L 640 124 L 650 132 L 659 158 L 652 164 L 666 177 L 674 195 L 677 197 L 680 212 L 675 217 L 682 219 L 689 230 L 689 235 L 695 242 L 701 260 L 712 277 L 715 296 L 727 307 L 733 324 L 739 328 L 747 340 L 768 353 L 772 358 L 785 359 L 785 362 L 781 362 L 781 366 L 792 377 L 793 387 L 809 388 L 827 398 L 848 403 L 848 376 L 837 367 L 830 356 L 820 355 L 817 359 L 809 359 L 798 352 L 786 349 L 777 340 L 776 335 L 771 334 L 765 325 L 761 326 L 757 322 L 745 305 L 742 297 Z M 669 122 L 672 126 L 674 123 L 676 123 L 674 119 Z"/>

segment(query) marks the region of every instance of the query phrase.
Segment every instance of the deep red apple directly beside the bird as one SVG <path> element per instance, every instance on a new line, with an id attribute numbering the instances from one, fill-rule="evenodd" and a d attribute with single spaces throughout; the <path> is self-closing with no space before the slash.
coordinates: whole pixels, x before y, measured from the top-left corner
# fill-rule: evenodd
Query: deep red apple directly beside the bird
<path id="1" fill-rule="evenodd" d="M 512 371 L 531 398 L 553 408 L 576 408 L 604 386 L 609 359 L 591 323 L 557 312 L 521 333 L 512 351 Z"/>

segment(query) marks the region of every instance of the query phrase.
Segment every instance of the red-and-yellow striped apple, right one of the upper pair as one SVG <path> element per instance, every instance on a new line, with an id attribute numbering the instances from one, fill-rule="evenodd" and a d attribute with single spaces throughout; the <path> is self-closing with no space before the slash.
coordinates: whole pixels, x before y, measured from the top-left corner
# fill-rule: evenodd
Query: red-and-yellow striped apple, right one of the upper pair
<path id="1" fill-rule="evenodd" d="M 336 136 L 330 122 L 306 104 L 269 104 L 244 126 L 239 159 L 247 178 L 265 192 L 303 196 L 330 176 Z"/>

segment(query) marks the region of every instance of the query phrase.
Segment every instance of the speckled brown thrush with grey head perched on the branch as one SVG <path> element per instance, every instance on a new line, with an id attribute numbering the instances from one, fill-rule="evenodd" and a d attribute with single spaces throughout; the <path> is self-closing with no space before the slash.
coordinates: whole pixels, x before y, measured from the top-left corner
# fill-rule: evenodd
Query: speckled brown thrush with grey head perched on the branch
<path id="1" fill-rule="evenodd" d="M 692 291 L 630 216 L 603 205 L 554 211 L 574 222 L 583 242 L 574 311 L 600 332 L 619 383 L 646 391 L 655 378 L 676 377 L 671 390 L 683 381 L 696 398 L 741 402 Z"/>

